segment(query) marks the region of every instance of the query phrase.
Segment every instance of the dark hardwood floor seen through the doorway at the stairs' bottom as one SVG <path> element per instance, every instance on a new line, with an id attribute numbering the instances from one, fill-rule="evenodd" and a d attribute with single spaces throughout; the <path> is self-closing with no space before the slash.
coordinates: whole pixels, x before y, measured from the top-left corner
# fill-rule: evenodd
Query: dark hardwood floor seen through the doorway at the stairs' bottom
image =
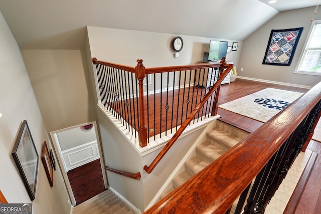
<path id="1" fill-rule="evenodd" d="M 77 205 L 106 190 L 100 159 L 74 168 L 67 175 Z"/>

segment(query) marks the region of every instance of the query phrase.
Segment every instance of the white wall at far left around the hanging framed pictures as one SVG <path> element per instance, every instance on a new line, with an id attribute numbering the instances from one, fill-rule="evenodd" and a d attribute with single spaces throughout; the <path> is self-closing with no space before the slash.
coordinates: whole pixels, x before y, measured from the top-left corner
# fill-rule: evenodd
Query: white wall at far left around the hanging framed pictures
<path id="1" fill-rule="evenodd" d="M 23 120 L 27 120 L 38 154 L 48 132 L 29 80 L 19 47 L 0 13 L 0 189 L 9 203 L 33 203 L 33 213 L 69 213 L 70 205 L 62 175 L 54 171 L 50 187 L 39 158 L 36 198 L 30 200 L 11 152 Z"/>

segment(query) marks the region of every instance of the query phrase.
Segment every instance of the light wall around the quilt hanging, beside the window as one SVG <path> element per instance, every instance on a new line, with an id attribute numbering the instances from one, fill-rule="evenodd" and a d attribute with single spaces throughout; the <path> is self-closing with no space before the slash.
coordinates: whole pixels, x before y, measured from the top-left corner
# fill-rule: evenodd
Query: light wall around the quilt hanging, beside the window
<path id="1" fill-rule="evenodd" d="M 296 64 L 311 26 L 310 20 L 314 10 L 315 7 L 279 13 L 246 38 L 243 41 L 240 63 L 237 67 L 237 75 L 304 86 L 314 86 L 321 81 L 321 76 L 294 74 Z M 314 17 L 314 20 L 318 19 L 321 19 L 321 13 L 319 12 Z M 262 62 L 271 30 L 300 27 L 303 27 L 303 32 L 298 41 L 291 65 L 263 65 Z M 241 68 L 244 70 L 240 71 Z"/>

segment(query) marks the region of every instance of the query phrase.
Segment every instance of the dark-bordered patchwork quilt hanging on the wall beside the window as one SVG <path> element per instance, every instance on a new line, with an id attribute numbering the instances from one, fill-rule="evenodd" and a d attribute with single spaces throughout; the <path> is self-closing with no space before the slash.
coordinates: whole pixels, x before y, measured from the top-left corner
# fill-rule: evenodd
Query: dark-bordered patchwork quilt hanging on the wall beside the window
<path id="1" fill-rule="evenodd" d="M 303 28 L 272 30 L 263 64 L 290 66 Z"/>

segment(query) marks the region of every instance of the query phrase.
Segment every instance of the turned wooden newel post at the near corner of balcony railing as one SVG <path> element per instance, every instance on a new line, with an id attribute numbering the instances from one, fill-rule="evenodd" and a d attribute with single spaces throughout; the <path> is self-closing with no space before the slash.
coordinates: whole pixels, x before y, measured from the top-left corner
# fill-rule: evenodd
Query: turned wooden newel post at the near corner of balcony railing
<path id="1" fill-rule="evenodd" d="M 147 146 L 147 128 L 145 126 L 145 110 L 144 110 L 144 90 L 143 90 L 143 80 L 146 76 L 145 67 L 142 64 L 143 60 L 137 60 L 136 78 L 138 80 L 138 114 L 139 114 L 139 127 L 138 127 L 138 141 L 141 147 Z"/>

